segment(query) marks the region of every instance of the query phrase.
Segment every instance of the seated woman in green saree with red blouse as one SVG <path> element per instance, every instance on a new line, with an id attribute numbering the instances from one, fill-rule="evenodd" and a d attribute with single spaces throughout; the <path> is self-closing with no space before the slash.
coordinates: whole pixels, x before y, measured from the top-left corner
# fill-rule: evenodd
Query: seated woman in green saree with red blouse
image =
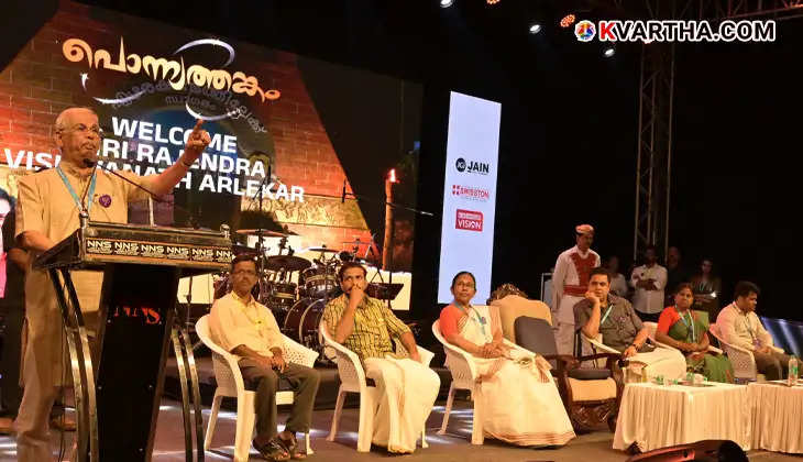
<path id="1" fill-rule="evenodd" d="M 703 374 L 710 382 L 734 383 L 734 367 L 724 354 L 708 352 L 707 322 L 692 311 L 694 294 L 689 283 L 678 286 L 674 306 L 667 307 L 658 319 L 656 340 L 682 351 L 686 370 Z"/>

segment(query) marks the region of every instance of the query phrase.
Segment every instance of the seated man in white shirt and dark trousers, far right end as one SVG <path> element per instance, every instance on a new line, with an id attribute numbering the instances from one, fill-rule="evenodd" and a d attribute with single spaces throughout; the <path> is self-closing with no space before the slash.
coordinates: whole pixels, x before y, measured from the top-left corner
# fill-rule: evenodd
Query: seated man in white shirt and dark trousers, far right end
<path id="1" fill-rule="evenodd" d="M 752 352 L 759 373 L 768 381 L 778 381 L 787 376 L 790 356 L 772 344 L 772 336 L 756 316 L 759 294 L 756 284 L 740 280 L 736 284 L 734 302 L 719 311 L 716 326 L 726 343 Z"/>

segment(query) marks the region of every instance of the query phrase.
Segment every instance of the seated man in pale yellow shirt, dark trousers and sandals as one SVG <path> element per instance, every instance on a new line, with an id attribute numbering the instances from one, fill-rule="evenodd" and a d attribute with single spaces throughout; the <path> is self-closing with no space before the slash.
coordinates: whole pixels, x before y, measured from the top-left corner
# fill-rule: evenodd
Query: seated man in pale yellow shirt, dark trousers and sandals
<path id="1" fill-rule="evenodd" d="M 212 340 L 240 356 L 245 387 L 256 392 L 254 448 L 267 460 L 304 459 L 296 452 L 296 432 L 309 431 L 318 393 L 318 371 L 284 359 L 284 340 L 270 309 L 251 296 L 257 283 L 256 262 L 240 255 L 231 263 L 232 292 L 212 305 L 209 318 Z M 295 388 L 293 410 L 282 433 L 276 431 L 276 392 L 280 378 Z"/>

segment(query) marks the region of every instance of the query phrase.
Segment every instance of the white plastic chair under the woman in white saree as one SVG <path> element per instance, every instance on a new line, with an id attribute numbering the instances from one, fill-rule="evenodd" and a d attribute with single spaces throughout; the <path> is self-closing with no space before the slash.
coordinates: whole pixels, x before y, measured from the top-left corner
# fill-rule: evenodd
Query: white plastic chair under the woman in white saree
<path id="1" fill-rule="evenodd" d="M 453 345 L 443 338 L 440 332 L 440 321 L 436 320 L 432 323 L 432 333 L 435 338 L 443 345 L 443 351 L 447 353 L 447 367 L 452 374 L 452 385 L 449 387 L 449 397 L 447 398 L 447 408 L 443 411 L 443 422 L 438 430 L 438 435 L 443 435 L 447 431 L 449 425 L 449 415 L 452 411 L 452 404 L 454 403 L 454 392 L 458 389 L 468 389 L 471 392 L 471 398 L 474 402 L 474 418 L 471 430 L 471 443 L 482 444 L 485 440 L 483 435 L 483 406 L 482 406 L 482 387 L 477 387 L 476 383 L 480 380 L 476 365 L 474 364 L 474 356 L 468 351 L 460 346 Z M 532 352 L 521 348 L 507 339 L 503 340 L 505 345 L 513 350 L 519 350 L 522 354 L 532 355 Z"/>

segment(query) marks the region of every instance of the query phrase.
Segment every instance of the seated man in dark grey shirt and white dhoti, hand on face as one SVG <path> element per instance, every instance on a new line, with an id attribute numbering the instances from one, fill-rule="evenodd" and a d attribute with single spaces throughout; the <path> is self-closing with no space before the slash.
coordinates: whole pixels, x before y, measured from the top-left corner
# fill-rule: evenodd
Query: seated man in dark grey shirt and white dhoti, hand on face
<path id="1" fill-rule="evenodd" d="M 685 374 L 686 361 L 674 349 L 653 349 L 647 344 L 647 328 L 629 301 L 610 294 L 610 275 L 605 268 L 591 271 L 588 292 L 574 307 L 576 323 L 583 334 L 596 339 L 622 353 L 631 363 L 645 364 L 648 377 L 680 378 Z"/>

